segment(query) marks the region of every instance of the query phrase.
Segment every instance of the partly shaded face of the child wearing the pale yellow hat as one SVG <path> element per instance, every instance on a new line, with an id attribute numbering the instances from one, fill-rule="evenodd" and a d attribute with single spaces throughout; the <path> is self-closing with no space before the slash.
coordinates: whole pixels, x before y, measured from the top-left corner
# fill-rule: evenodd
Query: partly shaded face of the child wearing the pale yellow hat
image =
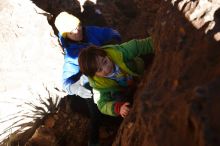
<path id="1" fill-rule="evenodd" d="M 82 26 L 78 26 L 77 28 L 73 29 L 71 32 L 67 32 L 67 38 L 73 41 L 82 41 L 83 33 L 82 33 Z"/>

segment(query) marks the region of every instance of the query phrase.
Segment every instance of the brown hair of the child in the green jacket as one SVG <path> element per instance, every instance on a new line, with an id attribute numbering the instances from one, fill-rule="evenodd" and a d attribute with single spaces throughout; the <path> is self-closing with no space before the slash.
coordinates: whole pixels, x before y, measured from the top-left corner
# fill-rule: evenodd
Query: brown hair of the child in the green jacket
<path id="1" fill-rule="evenodd" d="M 80 52 L 78 62 L 81 72 L 86 76 L 93 77 L 97 72 L 97 56 L 106 57 L 107 53 L 104 49 L 94 45 L 84 48 Z"/>

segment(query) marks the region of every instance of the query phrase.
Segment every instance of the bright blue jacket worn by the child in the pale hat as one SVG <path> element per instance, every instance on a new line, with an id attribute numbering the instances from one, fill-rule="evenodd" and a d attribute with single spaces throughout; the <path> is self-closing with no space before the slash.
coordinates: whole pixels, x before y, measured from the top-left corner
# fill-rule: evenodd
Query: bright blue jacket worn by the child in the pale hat
<path id="1" fill-rule="evenodd" d="M 120 34 L 108 27 L 85 26 L 83 35 L 84 42 L 73 42 L 59 34 L 59 40 L 65 53 L 62 77 L 63 88 L 69 95 L 73 94 L 70 85 L 78 81 L 82 75 L 78 64 L 80 50 L 89 45 L 101 46 L 111 40 L 121 41 Z"/>

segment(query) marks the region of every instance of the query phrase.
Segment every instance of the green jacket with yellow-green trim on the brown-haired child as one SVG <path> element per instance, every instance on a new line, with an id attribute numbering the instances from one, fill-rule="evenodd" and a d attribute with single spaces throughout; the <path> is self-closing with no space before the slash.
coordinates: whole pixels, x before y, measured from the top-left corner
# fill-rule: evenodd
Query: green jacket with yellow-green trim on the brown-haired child
<path id="1" fill-rule="evenodd" d="M 107 56 L 119 68 L 130 76 L 139 76 L 144 72 L 144 62 L 140 55 L 154 53 L 151 37 L 141 40 L 131 40 L 120 45 L 107 45 L 102 47 Z M 89 77 L 90 86 L 93 87 L 94 101 L 99 110 L 106 115 L 119 115 L 121 98 L 112 95 L 126 89 L 113 79 L 106 77 Z"/>

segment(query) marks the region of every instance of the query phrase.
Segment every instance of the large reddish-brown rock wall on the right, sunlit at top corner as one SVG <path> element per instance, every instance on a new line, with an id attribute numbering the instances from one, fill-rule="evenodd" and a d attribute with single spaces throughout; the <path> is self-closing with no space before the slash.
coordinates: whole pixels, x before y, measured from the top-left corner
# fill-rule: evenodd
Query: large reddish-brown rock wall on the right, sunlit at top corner
<path id="1" fill-rule="evenodd" d="M 113 145 L 220 145 L 219 6 L 161 2 L 152 33 L 154 63 Z"/>

